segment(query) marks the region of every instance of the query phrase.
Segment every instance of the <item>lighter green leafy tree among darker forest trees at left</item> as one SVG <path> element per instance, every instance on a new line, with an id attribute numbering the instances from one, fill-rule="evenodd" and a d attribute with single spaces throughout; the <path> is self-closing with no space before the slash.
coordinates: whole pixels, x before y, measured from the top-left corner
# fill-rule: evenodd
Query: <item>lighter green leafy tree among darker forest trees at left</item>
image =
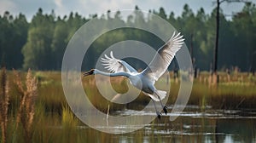
<path id="1" fill-rule="evenodd" d="M 42 10 L 32 18 L 28 30 L 27 42 L 22 49 L 25 69 L 52 69 L 51 43 L 54 35 L 53 15 L 43 14 Z"/>

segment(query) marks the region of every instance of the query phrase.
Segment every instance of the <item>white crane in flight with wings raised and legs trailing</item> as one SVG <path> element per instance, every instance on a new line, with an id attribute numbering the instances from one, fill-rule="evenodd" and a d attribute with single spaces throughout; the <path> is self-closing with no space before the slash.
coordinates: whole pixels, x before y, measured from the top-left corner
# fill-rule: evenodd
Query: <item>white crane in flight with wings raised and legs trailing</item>
<path id="1" fill-rule="evenodd" d="M 108 77 L 127 77 L 130 83 L 137 89 L 141 89 L 143 94 L 148 95 L 153 100 L 153 103 L 154 101 L 160 101 L 163 111 L 167 114 L 167 107 L 163 106 L 161 102 L 161 100 L 166 97 L 166 91 L 155 89 L 154 83 L 166 72 L 174 55 L 181 49 L 183 41 L 183 36 L 181 36 L 180 33 L 175 34 L 175 32 L 173 32 L 170 40 L 158 49 L 157 54 L 154 55 L 154 59 L 143 72 L 137 72 L 137 70 L 124 60 L 114 58 L 113 52 L 111 51 L 110 57 L 105 54 L 105 58 L 102 58 L 102 65 L 105 66 L 110 73 L 91 69 L 89 72 L 84 72 L 84 76 L 101 74 Z M 155 103 L 154 108 L 157 117 L 160 118 L 161 112 L 156 109 Z"/>

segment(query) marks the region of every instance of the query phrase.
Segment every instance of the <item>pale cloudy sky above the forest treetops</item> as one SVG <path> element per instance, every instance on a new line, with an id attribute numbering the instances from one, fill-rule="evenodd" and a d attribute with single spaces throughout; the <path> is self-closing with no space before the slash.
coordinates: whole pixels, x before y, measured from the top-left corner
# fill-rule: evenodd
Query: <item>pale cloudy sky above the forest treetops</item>
<path id="1" fill-rule="evenodd" d="M 9 11 L 11 14 L 19 13 L 26 14 L 26 18 L 31 20 L 32 15 L 36 14 L 38 8 L 42 8 L 44 13 L 50 13 L 55 10 L 56 15 L 69 14 L 71 11 L 79 12 L 85 17 L 89 14 L 101 15 L 106 13 L 108 9 L 111 11 L 122 9 L 134 9 L 137 5 L 140 9 L 148 11 L 149 9 L 159 10 L 163 7 L 166 14 L 171 11 L 174 14 L 180 15 L 183 11 L 183 5 L 189 4 L 189 7 L 196 12 L 201 7 L 206 13 L 211 13 L 216 7 L 216 0 L 0 0 L 0 14 L 4 11 Z M 256 0 L 252 0 L 256 3 Z M 224 9 L 224 14 L 232 14 L 240 11 L 243 3 L 222 3 L 221 8 Z"/>

